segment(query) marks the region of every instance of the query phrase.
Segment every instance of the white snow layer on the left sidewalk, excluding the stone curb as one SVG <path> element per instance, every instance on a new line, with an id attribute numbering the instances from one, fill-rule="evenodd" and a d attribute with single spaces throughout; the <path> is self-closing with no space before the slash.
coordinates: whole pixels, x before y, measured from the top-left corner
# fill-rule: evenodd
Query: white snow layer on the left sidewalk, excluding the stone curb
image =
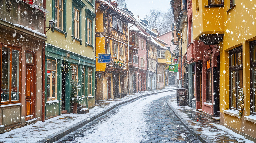
<path id="1" fill-rule="evenodd" d="M 91 117 L 107 110 L 107 108 L 120 102 L 130 100 L 132 98 L 136 98 L 144 94 L 158 93 L 171 89 L 176 89 L 176 87 L 169 86 L 165 87 L 165 89 L 162 90 L 140 92 L 133 95 L 128 95 L 124 98 L 115 99 L 115 101 L 112 102 L 107 101 L 108 104 L 100 102 L 100 107 L 95 106 L 94 108 L 91 108 L 89 110 L 89 113 L 87 114 L 63 114 L 61 116 L 45 120 L 45 122 L 39 121 L 34 124 L 30 124 L 28 126 L 17 128 L 9 132 L 3 133 L 0 136 L 0 142 L 38 142 L 65 128 L 74 126 L 76 123 L 79 123 L 80 121 L 86 118 L 89 120 Z"/>

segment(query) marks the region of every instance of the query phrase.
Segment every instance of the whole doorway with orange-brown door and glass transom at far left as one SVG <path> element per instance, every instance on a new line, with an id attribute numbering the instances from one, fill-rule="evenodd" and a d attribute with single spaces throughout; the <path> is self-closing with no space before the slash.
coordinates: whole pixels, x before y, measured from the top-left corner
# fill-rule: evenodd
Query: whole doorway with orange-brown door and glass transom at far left
<path id="1" fill-rule="evenodd" d="M 34 98 L 34 87 L 35 87 L 35 78 L 34 78 L 34 64 L 35 64 L 35 54 L 31 51 L 26 52 L 26 118 L 25 120 L 31 120 L 34 118 L 35 112 L 35 98 Z"/>

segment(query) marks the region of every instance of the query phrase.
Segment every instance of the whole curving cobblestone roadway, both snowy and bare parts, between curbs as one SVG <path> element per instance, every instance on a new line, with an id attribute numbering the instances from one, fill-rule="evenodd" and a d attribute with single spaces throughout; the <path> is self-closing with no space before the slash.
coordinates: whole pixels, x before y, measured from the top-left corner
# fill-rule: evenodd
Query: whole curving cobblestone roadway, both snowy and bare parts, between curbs
<path id="1" fill-rule="evenodd" d="M 163 94 L 120 105 L 57 142 L 199 143 L 167 105 L 173 92 Z"/>

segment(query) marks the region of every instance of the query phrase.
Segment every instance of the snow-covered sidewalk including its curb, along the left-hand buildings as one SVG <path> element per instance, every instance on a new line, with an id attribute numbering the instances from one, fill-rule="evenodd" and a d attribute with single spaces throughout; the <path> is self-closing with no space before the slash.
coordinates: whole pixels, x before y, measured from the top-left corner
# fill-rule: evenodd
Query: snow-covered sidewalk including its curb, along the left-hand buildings
<path id="1" fill-rule="evenodd" d="M 128 95 L 124 98 L 99 102 L 86 114 L 63 114 L 45 122 L 39 121 L 25 127 L 17 128 L 0 135 L 0 142 L 54 142 L 66 134 L 75 131 L 94 119 L 106 114 L 116 106 L 132 101 L 136 98 L 156 93 L 175 90 L 176 86 L 168 86 L 162 90 L 145 91 Z"/>

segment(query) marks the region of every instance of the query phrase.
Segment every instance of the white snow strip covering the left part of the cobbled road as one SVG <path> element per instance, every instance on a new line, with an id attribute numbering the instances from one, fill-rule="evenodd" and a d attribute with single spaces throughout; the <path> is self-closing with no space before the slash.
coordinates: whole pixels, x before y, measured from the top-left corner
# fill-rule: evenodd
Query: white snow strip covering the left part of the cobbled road
<path id="1" fill-rule="evenodd" d="M 176 91 L 175 91 L 176 92 Z M 175 92 L 165 92 L 140 98 L 118 109 L 118 112 L 108 116 L 108 118 L 96 126 L 93 126 L 83 134 L 78 140 L 73 142 L 83 143 L 92 142 L 129 142 L 138 143 L 144 139 L 149 125 L 145 120 L 145 110 L 150 110 L 147 106 L 150 102 L 154 102 L 158 98 L 173 94 Z M 127 114 L 131 113 L 131 114 Z"/>

